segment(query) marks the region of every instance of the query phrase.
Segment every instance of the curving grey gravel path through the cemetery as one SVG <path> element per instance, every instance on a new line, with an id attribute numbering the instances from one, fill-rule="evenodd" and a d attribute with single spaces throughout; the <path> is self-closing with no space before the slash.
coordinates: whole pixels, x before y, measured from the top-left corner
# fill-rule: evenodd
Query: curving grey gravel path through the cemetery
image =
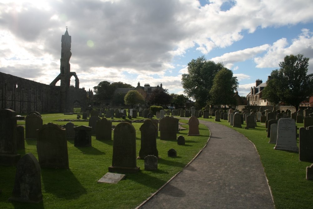
<path id="1" fill-rule="evenodd" d="M 231 128 L 199 122 L 211 132 L 207 146 L 137 208 L 275 208 L 254 144 Z"/>

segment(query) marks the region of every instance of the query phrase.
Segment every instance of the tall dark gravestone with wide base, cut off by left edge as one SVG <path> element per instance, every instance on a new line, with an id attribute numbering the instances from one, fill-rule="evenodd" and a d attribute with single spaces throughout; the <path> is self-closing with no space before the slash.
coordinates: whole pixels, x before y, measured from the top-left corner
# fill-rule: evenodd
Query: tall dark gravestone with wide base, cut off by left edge
<path id="1" fill-rule="evenodd" d="M 21 158 L 17 154 L 16 113 L 0 109 L 0 165 L 16 165 Z"/>

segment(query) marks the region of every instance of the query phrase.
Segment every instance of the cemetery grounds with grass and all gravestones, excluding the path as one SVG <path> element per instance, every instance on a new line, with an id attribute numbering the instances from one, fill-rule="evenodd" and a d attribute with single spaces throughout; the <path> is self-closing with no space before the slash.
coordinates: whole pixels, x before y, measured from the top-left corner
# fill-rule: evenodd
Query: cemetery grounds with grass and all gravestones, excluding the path
<path id="1" fill-rule="evenodd" d="M 1 127 L 2 135 L 8 130 L 6 136 L 15 138 L 15 145 L 0 147 L 0 208 L 136 208 L 182 171 L 210 140 L 210 131 L 201 121 L 232 128 L 254 144 L 275 207 L 313 205 L 312 126 L 304 128 L 303 120 L 278 111 L 190 108 L 153 115 L 147 109 L 133 110 L 136 116 L 127 119 L 122 117 L 128 116 L 127 111 L 125 115 L 122 110 L 121 116 L 119 109 L 112 109 L 112 115 L 109 110 L 81 113 L 84 119 L 76 114 L 33 112 L 31 117 L 25 114 L 26 121 L 14 119 L 12 111 L 2 111 L 2 124 L 12 120 Z M 38 127 L 29 137 L 28 118 Z M 14 127 L 26 128 L 24 139 L 20 139 L 21 128 Z M 30 183 L 24 182 L 23 170 L 33 176 Z M 19 184 L 31 189 L 28 201 Z"/>

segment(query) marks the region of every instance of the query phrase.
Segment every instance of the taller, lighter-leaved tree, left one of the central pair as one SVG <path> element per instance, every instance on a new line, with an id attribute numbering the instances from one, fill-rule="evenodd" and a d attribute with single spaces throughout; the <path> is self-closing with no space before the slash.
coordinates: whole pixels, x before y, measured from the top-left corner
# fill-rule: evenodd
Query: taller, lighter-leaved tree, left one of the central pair
<path id="1" fill-rule="evenodd" d="M 196 100 L 196 106 L 201 108 L 210 100 L 208 92 L 213 85 L 215 74 L 224 68 L 223 63 L 206 60 L 204 56 L 192 59 L 188 63 L 188 73 L 182 74 L 182 87 L 187 97 Z"/>

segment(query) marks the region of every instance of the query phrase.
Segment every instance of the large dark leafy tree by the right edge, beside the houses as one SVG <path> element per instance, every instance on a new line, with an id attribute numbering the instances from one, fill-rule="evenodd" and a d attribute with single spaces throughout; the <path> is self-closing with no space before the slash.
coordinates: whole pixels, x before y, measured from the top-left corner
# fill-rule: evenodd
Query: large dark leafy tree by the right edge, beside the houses
<path id="1" fill-rule="evenodd" d="M 299 104 L 313 95 L 313 74 L 307 74 L 309 58 L 287 55 L 272 71 L 262 91 L 262 97 L 273 104 L 285 102 L 298 111 Z M 265 91 L 264 91 L 265 90 Z"/>

